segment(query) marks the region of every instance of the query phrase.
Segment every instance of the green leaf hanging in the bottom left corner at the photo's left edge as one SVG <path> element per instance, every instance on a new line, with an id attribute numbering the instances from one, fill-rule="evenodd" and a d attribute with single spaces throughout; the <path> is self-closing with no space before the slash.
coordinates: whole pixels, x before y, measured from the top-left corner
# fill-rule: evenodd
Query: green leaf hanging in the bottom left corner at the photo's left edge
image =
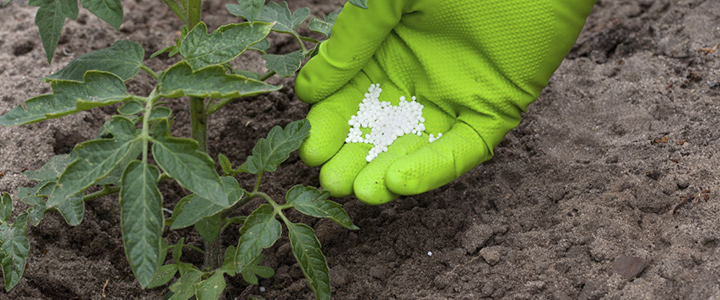
<path id="1" fill-rule="evenodd" d="M 5 278 L 5 291 L 10 291 L 22 278 L 25 272 L 30 242 L 27 239 L 27 214 L 21 214 L 15 223 L 0 225 L 0 264 L 3 278 Z"/>

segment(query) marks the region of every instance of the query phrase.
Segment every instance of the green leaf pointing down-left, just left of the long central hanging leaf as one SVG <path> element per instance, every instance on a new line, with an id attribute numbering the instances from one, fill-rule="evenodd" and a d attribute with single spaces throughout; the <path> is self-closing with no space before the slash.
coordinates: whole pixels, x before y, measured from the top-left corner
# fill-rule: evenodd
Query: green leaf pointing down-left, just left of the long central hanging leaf
<path id="1" fill-rule="evenodd" d="M 128 156 L 138 153 L 142 143 L 132 138 L 135 134 L 134 125 L 125 118 L 116 119 L 119 123 L 125 123 L 126 130 L 132 132 L 118 133 L 113 139 L 92 140 L 76 146 L 75 152 L 78 158 L 68 165 L 58 178 L 58 184 L 47 203 L 49 207 L 61 205 L 73 195 L 110 174 L 120 162 L 126 161 Z M 120 127 L 117 129 L 119 130 Z"/>

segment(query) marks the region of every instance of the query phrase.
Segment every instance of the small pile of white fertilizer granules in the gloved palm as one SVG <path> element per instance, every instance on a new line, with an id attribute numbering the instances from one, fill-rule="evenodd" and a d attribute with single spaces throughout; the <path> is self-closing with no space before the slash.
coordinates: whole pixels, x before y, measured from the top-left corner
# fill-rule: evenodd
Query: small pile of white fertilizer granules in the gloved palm
<path id="1" fill-rule="evenodd" d="M 410 102 L 405 100 L 404 96 L 400 97 L 398 106 L 393 106 L 390 102 L 380 101 L 381 92 L 379 83 L 371 84 L 357 114 L 348 121 L 352 127 L 345 139 L 346 143 L 374 145 L 365 157 L 368 162 L 375 159 L 378 154 L 386 152 L 395 139 L 411 133 L 419 136 L 425 131 L 423 105 L 415 101 L 415 96 Z M 370 133 L 365 134 L 364 138 L 362 128 L 370 128 Z M 441 136 L 442 133 L 438 133 L 437 137 L 430 134 L 429 142 L 432 143 Z"/>

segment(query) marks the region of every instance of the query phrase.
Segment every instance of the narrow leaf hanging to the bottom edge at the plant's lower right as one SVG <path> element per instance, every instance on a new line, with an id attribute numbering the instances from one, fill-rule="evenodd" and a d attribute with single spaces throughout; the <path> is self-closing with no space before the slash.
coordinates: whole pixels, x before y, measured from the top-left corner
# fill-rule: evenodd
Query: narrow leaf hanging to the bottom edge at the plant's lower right
<path id="1" fill-rule="evenodd" d="M 330 268 L 320 250 L 320 241 L 315 231 L 305 224 L 286 223 L 290 246 L 295 259 L 300 264 L 310 287 L 315 291 L 315 299 L 330 299 Z"/>

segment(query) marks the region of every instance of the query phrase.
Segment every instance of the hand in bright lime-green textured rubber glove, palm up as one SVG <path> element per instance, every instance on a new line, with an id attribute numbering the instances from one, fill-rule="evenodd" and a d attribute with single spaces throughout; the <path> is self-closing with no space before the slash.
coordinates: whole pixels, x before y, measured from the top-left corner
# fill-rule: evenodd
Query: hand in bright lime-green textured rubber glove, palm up
<path id="1" fill-rule="evenodd" d="M 298 74 L 313 104 L 300 147 L 320 184 L 367 204 L 440 187 L 493 156 L 575 43 L 595 0 L 368 0 L 346 4 Z M 372 145 L 345 144 L 348 120 L 372 83 L 381 100 L 417 96 L 426 131 L 398 138 L 368 163 Z M 428 134 L 442 133 L 429 143 Z"/>

